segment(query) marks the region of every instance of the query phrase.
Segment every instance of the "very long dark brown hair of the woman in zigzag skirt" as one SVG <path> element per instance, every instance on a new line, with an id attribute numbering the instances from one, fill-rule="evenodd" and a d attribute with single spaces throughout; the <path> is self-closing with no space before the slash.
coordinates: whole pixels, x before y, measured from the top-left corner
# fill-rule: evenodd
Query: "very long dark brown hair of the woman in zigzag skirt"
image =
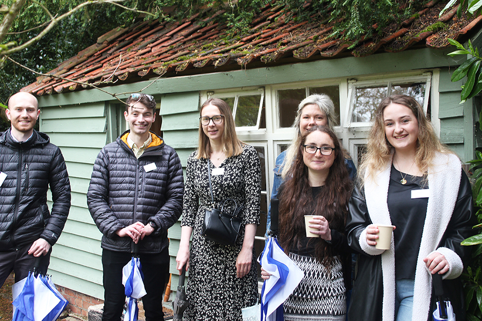
<path id="1" fill-rule="evenodd" d="M 308 182 L 308 167 L 303 162 L 303 145 L 306 137 L 315 131 L 326 133 L 333 140 L 335 159 L 329 169 L 325 186 L 322 187 L 318 197 L 313 200 Z M 344 233 L 347 205 L 352 189 L 340 142 L 330 128 L 314 126 L 301 135 L 296 144 L 298 152 L 279 192 L 279 239 L 281 246 L 287 252 L 293 244 L 298 248 L 301 246 L 301 238 L 305 234 L 304 215 L 324 216 L 330 229 Z M 329 268 L 336 253 L 326 242 L 318 239 L 314 241 L 317 242 L 315 245 L 316 258 Z"/>

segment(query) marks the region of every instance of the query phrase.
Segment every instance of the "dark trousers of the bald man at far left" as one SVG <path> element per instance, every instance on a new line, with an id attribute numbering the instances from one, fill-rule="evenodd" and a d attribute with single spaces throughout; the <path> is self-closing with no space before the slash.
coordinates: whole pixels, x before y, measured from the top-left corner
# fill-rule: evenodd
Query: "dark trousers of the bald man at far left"
<path id="1" fill-rule="evenodd" d="M 28 251 L 32 244 L 23 246 L 17 251 L 0 252 L 0 287 L 3 286 L 7 277 L 15 272 L 15 282 L 26 278 L 29 275 L 29 270 L 38 263 L 38 271 L 45 275 L 50 264 L 50 253 L 52 248 L 46 255 L 40 255 L 38 258 L 34 255 L 29 255 Z"/>

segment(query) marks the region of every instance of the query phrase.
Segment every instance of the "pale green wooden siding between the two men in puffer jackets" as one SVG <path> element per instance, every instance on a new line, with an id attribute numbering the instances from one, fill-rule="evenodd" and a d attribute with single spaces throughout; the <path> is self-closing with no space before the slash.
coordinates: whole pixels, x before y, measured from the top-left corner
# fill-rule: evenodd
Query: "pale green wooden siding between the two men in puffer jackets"
<path id="1" fill-rule="evenodd" d="M 103 298 L 102 234 L 87 209 L 86 193 L 95 158 L 106 142 L 105 103 L 64 103 L 41 110 L 40 131 L 61 149 L 72 189 L 69 218 L 52 248 L 49 273 L 55 284 Z M 52 208 L 50 193 L 48 204 Z"/>

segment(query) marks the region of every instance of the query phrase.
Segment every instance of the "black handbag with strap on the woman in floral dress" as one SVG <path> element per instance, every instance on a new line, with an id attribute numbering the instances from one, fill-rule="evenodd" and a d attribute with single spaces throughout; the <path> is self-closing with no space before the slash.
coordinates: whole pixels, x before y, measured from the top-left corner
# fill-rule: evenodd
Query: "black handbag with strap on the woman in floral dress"
<path id="1" fill-rule="evenodd" d="M 240 235 L 239 231 L 242 221 L 240 213 L 242 206 L 238 206 L 238 203 L 233 199 L 225 199 L 221 206 L 221 210 L 214 208 L 214 197 L 212 195 L 211 186 L 211 169 L 209 164 L 210 161 L 208 159 L 207 177 L 209 179 L 209 192 L 211 193 L 213 207 L 206 210 L 201 235 L 222 245 L 234 245 L 236 239 Z M 227 213 L 227 210 L 224 209 L 226 203 L 234 203 L 235 210 L 233 211 L 233 215 Z"/>

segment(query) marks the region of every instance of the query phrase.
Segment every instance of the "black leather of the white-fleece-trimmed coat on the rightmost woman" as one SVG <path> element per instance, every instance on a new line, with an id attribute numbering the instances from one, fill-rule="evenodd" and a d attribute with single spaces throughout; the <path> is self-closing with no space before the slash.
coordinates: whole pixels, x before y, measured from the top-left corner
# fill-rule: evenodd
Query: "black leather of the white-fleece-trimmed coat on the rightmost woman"
<path id="1" fill-rule="evenodd" d="M 429 182 L 430 185 L 430 182 Z M 381 202 L 381 201 L 380 201 Z M 361 231 L 373 222 L 368 214 L 363 191 L 355 188 L 349 203 L 349 217 L 346 224 L 348 244 L 360 255 L 357 263 L 357 275 L 348 309 L 348 320 L 382 321 L 383 270 L 380 255 L 368 255 L 359 244 Z M 472 191 L 469 180 L 462 173 L 459 192 L 453 215 L 448 223 L 444 237 L 438 247 L 447 247 L 457 253 L 465 263 L 472 248 L 462 246 L 460 242 L 475 234 L 472 226 L 477 224 L 473 215 Z M 457 321 L 465 321 L 464 292 L 460 277 L 444 280 L 444 292 L 449 297 Z M 432 291 L 433 293 L 433 291 Z M 435 298 L 431 298 L 429 319 L 435 310 Z M 417 303 L 413 303 L 417 304 Z"/>

